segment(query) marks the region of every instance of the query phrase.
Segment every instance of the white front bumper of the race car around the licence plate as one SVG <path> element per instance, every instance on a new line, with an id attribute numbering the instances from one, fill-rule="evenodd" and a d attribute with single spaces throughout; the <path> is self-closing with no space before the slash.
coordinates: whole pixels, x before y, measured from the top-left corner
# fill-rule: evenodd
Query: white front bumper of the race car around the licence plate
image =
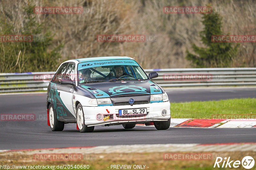
<path id="1" fill-rule="evenodd" d="M 119 117 L 118 111 L 123 109 L 139 109 L 147 108 L 147 115 L 140 117 Z M 162 110 L 167 110 L 166 116 L 161 114 Z M 126 123 L 146 123 L 152 121 L 167 121 L 171 117 L 170 113 L 170 102 L 159 102 L 159 103 L 148 103 L 148 104 L 137 104 L 137 105 L 123 105 L 123 106 L 98 106 L 98 107 L 87 107 L 83 106 L 84 110 L 84 123 L 87 126 L 95 125 L 117 125 Z M 109 112 L 109 113 L 108 113 Z M 111 115 L 111 119 L 106 121 L 97 120 L 96 115 L 102 114 L 103 117 Z"/>

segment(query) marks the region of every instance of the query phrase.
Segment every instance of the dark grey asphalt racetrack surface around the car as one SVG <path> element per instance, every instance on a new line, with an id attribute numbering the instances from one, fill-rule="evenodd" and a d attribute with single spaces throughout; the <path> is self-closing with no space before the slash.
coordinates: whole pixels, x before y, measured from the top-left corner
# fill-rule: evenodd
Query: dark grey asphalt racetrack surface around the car
<path id="1" fill-rule="evenodd" d="M 171 102 L 256 96 L 256 88 L 172 89 L 166 91 Z M 96 126 L 93 133 L 80 133 L 76 130 L 76 124 L 66 124 L 64 131 L 53 132 L 47 126 L 45 102 L 46 93 L 0 95 L 0 114 L 36 114 L 35 121 L 0 121 L 0 150 L 123 144 L 256 142 L 255 128 L 169 128 L 165 131 L 157 131 L 154 127 L 142 126 L 126 130 L 118 125 Z"/>

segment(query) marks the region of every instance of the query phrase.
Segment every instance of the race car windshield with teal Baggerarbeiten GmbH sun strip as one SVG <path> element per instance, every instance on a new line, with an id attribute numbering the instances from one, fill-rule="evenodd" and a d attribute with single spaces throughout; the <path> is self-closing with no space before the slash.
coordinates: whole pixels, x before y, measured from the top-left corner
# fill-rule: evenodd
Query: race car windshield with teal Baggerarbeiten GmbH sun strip
<path id="1" fill-rule="evenodd" d="M 78 64 L 79 83 L 148 79 L 135 60 L 104 60 Z"/>

